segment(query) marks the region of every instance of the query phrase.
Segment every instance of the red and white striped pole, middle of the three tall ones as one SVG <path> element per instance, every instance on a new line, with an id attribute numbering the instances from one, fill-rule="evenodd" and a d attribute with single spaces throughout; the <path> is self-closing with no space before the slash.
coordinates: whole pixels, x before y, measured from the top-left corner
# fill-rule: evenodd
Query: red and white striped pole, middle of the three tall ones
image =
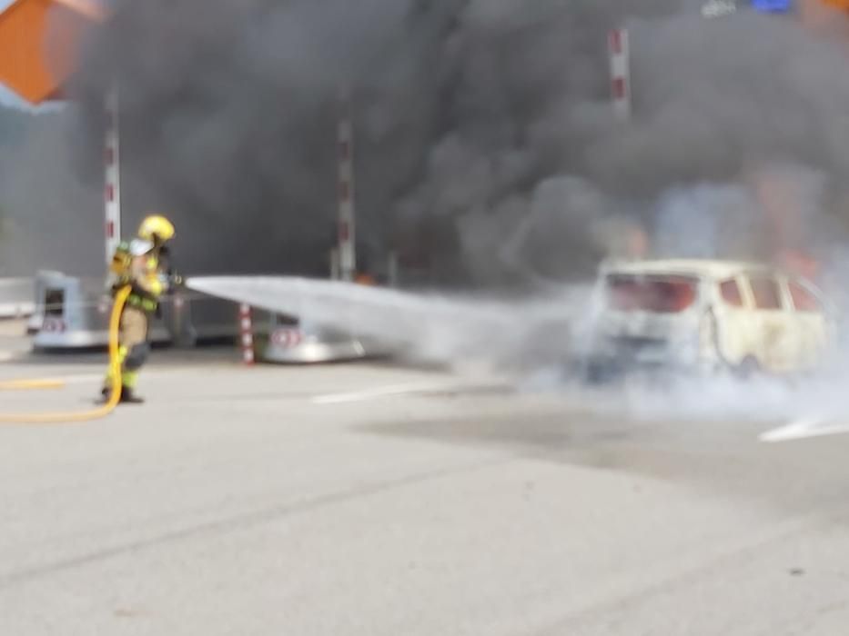
<path id="1" fill-rule="evenodd" d="M 339 278 L 353 281 L 357 273 L 354 225 L 354 124 L 350 95 L 339 99 Z"/>

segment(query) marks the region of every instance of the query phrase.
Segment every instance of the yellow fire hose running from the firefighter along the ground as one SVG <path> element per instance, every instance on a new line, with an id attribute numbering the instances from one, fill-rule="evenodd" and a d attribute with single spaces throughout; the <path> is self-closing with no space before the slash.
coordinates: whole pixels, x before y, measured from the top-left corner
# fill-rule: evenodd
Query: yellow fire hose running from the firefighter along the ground
<path id="1" fill-rule="evenodd" d="M 121 313 L 124 311 L 126 297 L 130 287 L 121 288 L 116 294 L 112 313 L 109 316 L 109 368 L 112 372 L 112 393 L 109 401 L 96 409 L 82 412 L 18 413 L 0 414 L 0 423 L 6 424 L 64 424 L 89 422 L 106 417 L 115 410 L 121 399 L 121 363 L 118 360 L 118 329 L 121 325 Z M 35 389 L 56 389 L 64 386 L 59 380 L 15 380 L 0 383 L 0 391 L 26 391 Z"/>

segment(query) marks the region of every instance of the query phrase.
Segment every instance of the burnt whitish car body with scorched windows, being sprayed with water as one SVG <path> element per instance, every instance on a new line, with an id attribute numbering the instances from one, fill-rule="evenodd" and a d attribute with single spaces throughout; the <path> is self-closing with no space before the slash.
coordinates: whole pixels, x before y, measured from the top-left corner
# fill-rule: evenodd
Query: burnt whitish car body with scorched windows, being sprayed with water
<path id="1" fill-rule="evenodd" d="M 591 380 L 635 369 L 805 373 L 829 340 L 823 294 L 755 263 L 602 265 L 583 362 Z"/>

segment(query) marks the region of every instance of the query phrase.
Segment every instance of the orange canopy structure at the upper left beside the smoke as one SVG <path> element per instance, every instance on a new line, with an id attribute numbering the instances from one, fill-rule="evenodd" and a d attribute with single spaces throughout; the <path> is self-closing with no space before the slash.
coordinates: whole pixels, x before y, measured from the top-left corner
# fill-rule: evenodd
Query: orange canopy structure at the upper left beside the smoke
<path id="1" fill-rule="evenodd" d="M 15 0 L 0 14 L 0 83 L 30 104 L 61 99 L 83 35 L 105 20 L 94 0 Z"/>

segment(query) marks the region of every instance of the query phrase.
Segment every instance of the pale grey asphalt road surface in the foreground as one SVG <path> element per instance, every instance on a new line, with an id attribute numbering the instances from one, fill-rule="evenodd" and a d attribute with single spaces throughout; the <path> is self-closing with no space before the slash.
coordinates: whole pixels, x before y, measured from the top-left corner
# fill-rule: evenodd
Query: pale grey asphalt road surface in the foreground
<path id="1" fill-rule="evenodd" d="M 0 429 L 0 632 L 846 633 L 849 436 L 236 361 L 160 352 L 144 406 Z M 102 363 L 0 364 L 70 381 L 2 410 L 86 409 Z"/>

